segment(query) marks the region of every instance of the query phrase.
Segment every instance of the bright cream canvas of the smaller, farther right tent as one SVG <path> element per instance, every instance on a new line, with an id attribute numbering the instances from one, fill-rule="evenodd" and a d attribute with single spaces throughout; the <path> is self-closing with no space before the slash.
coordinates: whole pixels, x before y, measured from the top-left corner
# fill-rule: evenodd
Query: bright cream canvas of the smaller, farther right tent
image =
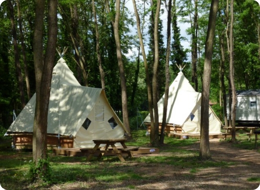
<path id="1" fill-rule="evenodd" d="M 162 123 L 164 95 L 158 101 L 159 123 Z M 166 124 L 178 125 L 182 133 L 200 133 L 201 93 L 194 90 L 188 79 L 180 71 L 169 87 Z M 144 123 L 150 123 L 150 114 Z M 220 133 L 221 121 L 209 109 L 209 133 Z"/>

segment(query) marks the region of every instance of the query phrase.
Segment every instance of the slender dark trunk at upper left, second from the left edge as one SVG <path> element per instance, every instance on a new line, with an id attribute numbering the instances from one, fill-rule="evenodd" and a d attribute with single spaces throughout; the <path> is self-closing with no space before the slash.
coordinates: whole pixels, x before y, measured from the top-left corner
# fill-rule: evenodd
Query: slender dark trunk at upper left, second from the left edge
<path id="1" fill-rule="evenodd" d="M 23 54 L 24 75 L 25 75 L 25 81 L 26 81 L 27 96 L 28 96 L 28 99 L 31 99 L 31 87 L 30 87 L 29 71 L 28 71 L 27 59 L 26 59 L 26 48 L 25 48 L 25 44 L 24 44 L 24 36 L 23 36 L 23 30 L 22 30 L 22 18 L 21 18 L 19 0 L 16 0 L 16 5 L 17 5 L 17 14 L 18 14 L 22 54 Z"/>

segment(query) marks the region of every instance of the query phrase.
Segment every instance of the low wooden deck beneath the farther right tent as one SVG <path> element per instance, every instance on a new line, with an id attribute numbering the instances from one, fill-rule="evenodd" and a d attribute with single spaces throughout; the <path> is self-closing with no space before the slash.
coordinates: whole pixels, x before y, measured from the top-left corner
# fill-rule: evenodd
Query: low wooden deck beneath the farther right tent
<path id="1" fill-rule="evenodd" d="M 168 137 L 174 137 L 178 139 L 200 139 L 200 133 L 192 134 L 192 133 L 168 133 Z M 231 137 L 231 133 L 216 133 L 210 134 L 210 139 L 225 139 Z"/>

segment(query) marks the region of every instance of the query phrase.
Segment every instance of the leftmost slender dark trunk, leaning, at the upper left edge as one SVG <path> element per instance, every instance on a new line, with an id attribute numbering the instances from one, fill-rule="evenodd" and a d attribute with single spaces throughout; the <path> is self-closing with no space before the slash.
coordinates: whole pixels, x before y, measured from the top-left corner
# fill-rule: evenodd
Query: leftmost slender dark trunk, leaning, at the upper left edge
<path id="1" fill-rule="evenodd" d="M 17 75 L 18 86 L 19 86 L 19 91 L 20 91 L 21 105 L 22 105 L 22 108 L 24 108 L 26 103 L 25 103 L 25 96 L 24 96 L 24 90 L 23 90 L 23 77 L 22 77 L 22 70 L 21 70 L 20 59 L 19 59 L 19 50 L 18 50 L 18 42 L 17 42 L 17 36 L 16 36 L 14 8 L 13 8 L 13 4 L 12 4 L 11 0 L 8 0 L 8 6 L 9 6 L 9 12 L 10 12 L 10 21 L 11 21 L 11 27 L 12 27 L 13 43 L 14 43 L 16 75 Z"/>

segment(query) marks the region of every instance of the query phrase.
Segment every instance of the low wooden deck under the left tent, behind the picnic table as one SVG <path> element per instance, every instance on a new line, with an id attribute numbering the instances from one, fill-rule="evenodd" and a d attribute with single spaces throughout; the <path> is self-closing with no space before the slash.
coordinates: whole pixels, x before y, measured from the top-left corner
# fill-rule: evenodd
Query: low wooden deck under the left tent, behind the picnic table
<path id="1" fill-rule="evenodd" d="M 130 148 L 131 146 L 129 146 Z M 120 148 L 120 147 L 118 147 Z M 139 147 L 138 150 L 136 151 L 131 151 L 132 154 L 154 154 L 154 153 L 159 153 L 159 148 L 149 148 L 149 147 Z M 82 157 L 82 156 L 88 156 L 87 151 L 81 151 L 80 148 L 54 148 L 52 150 L 52 153 L 55 155 L 63 155 L 63 156 L 77 156 L 77 157 Z M 114 156 L 115 154 L 107 154 L 105 153 L 104 156 Z M 127 154 L 126 154 L 127 155 Z M 98 155 L 94 155 L 98 156 Z"/>

